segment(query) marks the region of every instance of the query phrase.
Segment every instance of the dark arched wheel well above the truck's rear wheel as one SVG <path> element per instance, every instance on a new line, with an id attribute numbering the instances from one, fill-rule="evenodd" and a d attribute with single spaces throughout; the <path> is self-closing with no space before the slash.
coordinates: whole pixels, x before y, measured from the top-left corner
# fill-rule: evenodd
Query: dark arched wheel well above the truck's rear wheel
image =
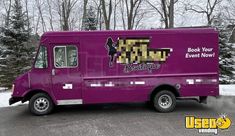
<path id="1" fill-rule="evenodd" d="M 152 101 L 153 98 L 154 98 L 154 96 L 155 96 L 158 92 L 160 92 L 160 91 L 162 91 L 162 90 L 171 91 L 171 92 L 175 95 L 175 97 L 179 97 L 179 96 L 180 96 L 178 90 L 177 90 L 174 86 L 168 85 L 168 84 L 164 84 L 164 85 L 159 85 L 159 86 L 157 86 L 157 87 L 152 91 L 152 93 L 151 93 L 151 95 L 150 95 L 150 101 Z"/>

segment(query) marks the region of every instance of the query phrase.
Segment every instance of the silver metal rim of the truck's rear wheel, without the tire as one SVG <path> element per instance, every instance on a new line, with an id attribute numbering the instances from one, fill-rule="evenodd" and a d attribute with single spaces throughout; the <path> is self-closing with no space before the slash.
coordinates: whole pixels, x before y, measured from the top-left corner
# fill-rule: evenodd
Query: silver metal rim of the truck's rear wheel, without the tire
<path id="1" fill-rule="evenodd" d="M 172 98 L 167 94 L 163 94 L 158 99 L 158 105 L 163 109 L 170 108 L 172 105 Z"/>

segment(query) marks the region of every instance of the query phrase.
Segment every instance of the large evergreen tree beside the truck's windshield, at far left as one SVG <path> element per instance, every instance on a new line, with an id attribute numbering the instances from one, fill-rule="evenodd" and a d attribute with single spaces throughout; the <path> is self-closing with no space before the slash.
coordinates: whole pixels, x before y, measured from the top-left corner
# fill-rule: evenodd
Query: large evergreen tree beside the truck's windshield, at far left
<path id="1" fill-rule="evenodd" d="M 21 1 L 15 0 L 9 26 L 0 35 L 0 86 L 10 87 L 13 80 L 30 68 L 34 47 L 30 44 L 31 30 Z"/>

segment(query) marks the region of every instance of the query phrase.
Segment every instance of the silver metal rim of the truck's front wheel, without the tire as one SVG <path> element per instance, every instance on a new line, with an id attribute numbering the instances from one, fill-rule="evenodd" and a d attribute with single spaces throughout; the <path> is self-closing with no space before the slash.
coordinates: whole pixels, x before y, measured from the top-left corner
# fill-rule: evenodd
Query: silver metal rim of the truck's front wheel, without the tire
<path id="1" fill-rule="evenodd" d="M 45 112 L 49 108 L 49 100 L 44 97 L 39 97 L 34 101 L 34 109 L 38 112 Z"/>

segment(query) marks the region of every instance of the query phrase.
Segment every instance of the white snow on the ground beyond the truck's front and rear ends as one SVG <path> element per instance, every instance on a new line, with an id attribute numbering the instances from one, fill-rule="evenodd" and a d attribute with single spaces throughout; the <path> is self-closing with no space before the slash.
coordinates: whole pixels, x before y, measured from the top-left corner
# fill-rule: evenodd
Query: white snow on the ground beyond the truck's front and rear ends
<path id="1" fill-rule="evenodd" d="M 235 84 L 233 84 L 233 85 L 220 85 L 219 89 L 220 89 L 220 95 L 235 96 Z M 11 93 L 12 93 L 11 91 L 0 92 L 0 107 L 8 107 L 9 106 L 8 100 L 11 97 Z M 27 104 L 27 102 L 24 104 Z M 18 105 L 22 105 L 22 103 L 17 102 L 11 106 L 18 106 Z"/>

